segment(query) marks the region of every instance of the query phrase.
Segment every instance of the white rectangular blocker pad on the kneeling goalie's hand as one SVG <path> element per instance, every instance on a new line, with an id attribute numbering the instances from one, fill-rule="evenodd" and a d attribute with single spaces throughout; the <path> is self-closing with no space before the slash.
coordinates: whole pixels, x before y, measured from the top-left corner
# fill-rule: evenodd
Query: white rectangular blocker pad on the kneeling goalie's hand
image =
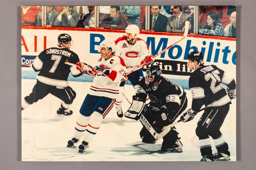
<path id="1" fill-rule="evenodd" d="M 124 116 L 130 119 L 139 120 L 145 106 L 146 97 L 132 96 L 132 99 L 132 105 Z"/>

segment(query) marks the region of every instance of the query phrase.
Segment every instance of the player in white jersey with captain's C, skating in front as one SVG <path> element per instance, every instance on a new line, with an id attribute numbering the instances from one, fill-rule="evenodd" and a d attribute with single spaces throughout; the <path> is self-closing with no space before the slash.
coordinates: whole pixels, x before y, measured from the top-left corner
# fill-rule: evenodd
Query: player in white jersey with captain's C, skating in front
<path id="1" fill-rule="evenodd" d="M 125 64 L 121 57 L 114 56 L 114 50 L 114 41 L 104 40 L 99 45 L 101 58 L 97 62 L 98 66 L 91 67 L 82 62 L 77 63 L 77 70 L 95 76 L 80 108 L 74 136 L 67 142 L 67 147 L 71 147 L 83 136 L 82 144 L 78 147 L 79 152 L 83 152 L 88 147 L 88 143 L 99 130 L 102 120 L 113 107 L 119 94 Z M 88 67 L 91 70 L 84 70 Z"/>

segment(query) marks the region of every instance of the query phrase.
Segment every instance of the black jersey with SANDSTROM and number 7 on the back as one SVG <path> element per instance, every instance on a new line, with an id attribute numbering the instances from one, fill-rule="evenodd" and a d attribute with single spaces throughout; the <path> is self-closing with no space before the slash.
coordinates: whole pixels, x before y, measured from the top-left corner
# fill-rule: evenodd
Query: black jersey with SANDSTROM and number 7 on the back
<path id="1" fill-rule="evenodd" d="M 73 64 L 79 62 L 79 57 L 73 51 L 61 47 L 52 47 L 42 51 L 31 64 L 31 67 L 35 71 L 40 71 L 37 79 L 42 83 L 67 87 L 69 73 L 71 72 L 73 76 L 80 74 L 75 66 L 64 63 L 67 59 L 70 59 L 69 62 Z"/>

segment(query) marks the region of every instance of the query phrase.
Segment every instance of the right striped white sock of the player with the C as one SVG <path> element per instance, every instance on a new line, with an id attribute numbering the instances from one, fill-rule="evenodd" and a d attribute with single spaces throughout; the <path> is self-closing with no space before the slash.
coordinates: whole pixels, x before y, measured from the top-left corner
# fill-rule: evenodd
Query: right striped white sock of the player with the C
<path id="1" fill-rule="evenodd" d="M 102 120 L 103 116 L 99 112 L 93 112 L 88 123 L 87 129 L 85 131 L 85 134 L 83 136 L 83 141 L 89 143 L 92 140 L 94 135 L 99 130 Z"/>

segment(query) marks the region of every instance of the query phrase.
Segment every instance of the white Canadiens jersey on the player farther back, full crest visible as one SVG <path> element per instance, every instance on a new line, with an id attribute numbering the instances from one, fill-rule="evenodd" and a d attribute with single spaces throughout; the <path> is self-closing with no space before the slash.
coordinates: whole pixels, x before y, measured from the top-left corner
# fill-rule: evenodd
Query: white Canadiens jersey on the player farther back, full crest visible
<path id="1" fill-rule="evenodd" d="M 115 54 L 124 59 L 126 72 L 140 65 L 144 58 L 149 55 L 148 45 L 143 39 L 137 38 L 136 42 L 131 45 L 128 44 L 126 36 L 124 36 L 116 39 L 115 43 Z"/>

